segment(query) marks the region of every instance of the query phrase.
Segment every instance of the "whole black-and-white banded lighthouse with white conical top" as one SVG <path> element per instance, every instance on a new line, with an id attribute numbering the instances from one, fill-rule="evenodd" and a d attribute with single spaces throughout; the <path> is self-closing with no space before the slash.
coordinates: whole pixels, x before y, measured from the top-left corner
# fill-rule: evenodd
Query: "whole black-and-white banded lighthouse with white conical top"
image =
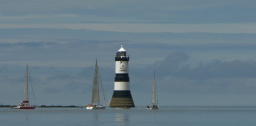
<path id="1" fill-rule="evenodd" d="M 135 107 L 130 91 L 129 59 L 122 44 L 115 57 L 115 86 L 109 107 Z"/>

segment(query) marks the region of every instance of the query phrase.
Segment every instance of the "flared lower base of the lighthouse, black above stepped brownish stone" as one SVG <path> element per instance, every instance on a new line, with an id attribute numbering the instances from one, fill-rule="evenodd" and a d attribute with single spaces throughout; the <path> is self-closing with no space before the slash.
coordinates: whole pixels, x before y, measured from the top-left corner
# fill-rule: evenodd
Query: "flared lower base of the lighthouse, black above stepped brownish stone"
<path id="1" fill-rule="evenodd" d="M 135 107 L 131 91 L 114 91 L 109 107 L 131 108 Z"/>

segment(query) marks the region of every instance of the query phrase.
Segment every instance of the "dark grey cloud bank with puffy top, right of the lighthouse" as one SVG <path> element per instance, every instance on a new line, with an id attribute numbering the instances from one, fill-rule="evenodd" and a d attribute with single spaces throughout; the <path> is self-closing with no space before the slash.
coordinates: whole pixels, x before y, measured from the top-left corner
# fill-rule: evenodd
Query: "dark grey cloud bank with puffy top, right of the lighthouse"
<path id="1" fill-rule="evenodd" d="M 161 92 L 181 94 L 253 93 L 256 90 L 256 62 L 212 60 L 191 67 L 190 56 L 184 52 L 171 53 L 152 67 L 130 69 L 133 91 L 151 90 L 153 71 L 156 71 Z M 154 68 L 153 68 L 154 67 Z M 143 78 L 143 80 L 142 80 Z"/>

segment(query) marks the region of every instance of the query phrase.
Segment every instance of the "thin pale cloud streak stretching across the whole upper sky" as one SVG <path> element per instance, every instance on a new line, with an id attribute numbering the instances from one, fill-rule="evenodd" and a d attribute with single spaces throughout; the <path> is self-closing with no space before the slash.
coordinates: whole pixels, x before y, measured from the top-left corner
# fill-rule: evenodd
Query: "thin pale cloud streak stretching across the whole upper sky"
<path id="1" fill-rule="evenodd" d="M 72 30 L 94 30 L 128 33 L 251 33 L 255 34 L 255 23 L 212 24 L 146 24 L 146 23 L 76 23 L 76 24 L 0 24 L 1 29 L 53 28 Z"/>

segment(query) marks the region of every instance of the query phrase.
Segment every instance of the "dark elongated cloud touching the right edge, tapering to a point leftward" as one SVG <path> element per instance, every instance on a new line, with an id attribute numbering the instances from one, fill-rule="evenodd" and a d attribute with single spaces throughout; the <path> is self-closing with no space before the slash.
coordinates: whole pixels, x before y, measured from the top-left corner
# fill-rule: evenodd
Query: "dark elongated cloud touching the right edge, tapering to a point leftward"
<path id="1" fill-rule="evenodd" d="M 206 80 L 211 78 L 255 78 L 256 62 L 253 61 L 220 61 L 201 64 L 196 68 L 183 66 L 172 75 L 193 80 Z"/>

